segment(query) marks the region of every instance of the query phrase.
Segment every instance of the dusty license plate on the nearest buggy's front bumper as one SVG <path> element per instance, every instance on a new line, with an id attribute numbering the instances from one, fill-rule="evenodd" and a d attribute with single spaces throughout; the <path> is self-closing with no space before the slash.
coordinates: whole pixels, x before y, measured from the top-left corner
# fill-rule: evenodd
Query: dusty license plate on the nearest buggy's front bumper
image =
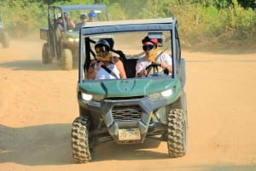
<path id="1" fill-rule="evenodd" d="M 119 140 L 140 140 L 141 134 L 138 128 L 119 129 Z"/>

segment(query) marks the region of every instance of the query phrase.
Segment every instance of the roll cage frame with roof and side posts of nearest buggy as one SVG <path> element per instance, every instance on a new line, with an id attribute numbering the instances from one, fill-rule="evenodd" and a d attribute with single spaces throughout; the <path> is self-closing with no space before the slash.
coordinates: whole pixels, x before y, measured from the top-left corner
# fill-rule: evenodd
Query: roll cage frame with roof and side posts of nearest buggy
<path id="1" fill-rule="evenodd" d="M 95 37 L 104 34 L 111 34 L 115 32 L 136 32 L 136 31 L 170 31 L 172 39 L 172 77 L 177 77 L 178 63 L 181 60 L 180 42 L 177 34 L 177 19 L 153 19 L 153 20 L 125 20 L 125 21 L 104 21 L 97 23 L 88 23 L 80 30 L 80 53 L 79 53 L 79 83 L 83 82 L 83 76 L 89 65 L 90 56 L 95 56 L 93 50 L 90 48 L 90 43 L 95 43 L 90 37 Z M 173 37 L 173 38 L 172 38 Z M 85 59 L 83 58 L 83 46 L 85 48 Z M 135 71 L 135 59 L 127 59 L 121 49 L 113 49 L 111 51 L 119 54 L 123 61 L 125 71 Z M 132 61 L 131 61 L 132 60 Z M 133 63 L 133 67 L 129 68 L 129 64 Z M 134 74 L 134 73 L 132 73 Z M 131 74 L 131 75 L 132 75 Z M 128 77 L 129 78 L 129 77 Z"/>

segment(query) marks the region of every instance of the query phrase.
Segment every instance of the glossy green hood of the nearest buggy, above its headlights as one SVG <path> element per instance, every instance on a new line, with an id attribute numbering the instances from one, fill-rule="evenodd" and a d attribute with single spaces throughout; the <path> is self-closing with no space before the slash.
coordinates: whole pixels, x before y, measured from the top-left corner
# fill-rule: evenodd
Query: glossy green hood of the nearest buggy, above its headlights
<path id="1" fill-rule="evenodd" d="M 178 79 L 170 77 L 97 80 L 79 83 L 79 89 L 82 92 L 86 94 L 103 95 L 105 97 L 144 96 L 177 87 L 181 87 Z"/>

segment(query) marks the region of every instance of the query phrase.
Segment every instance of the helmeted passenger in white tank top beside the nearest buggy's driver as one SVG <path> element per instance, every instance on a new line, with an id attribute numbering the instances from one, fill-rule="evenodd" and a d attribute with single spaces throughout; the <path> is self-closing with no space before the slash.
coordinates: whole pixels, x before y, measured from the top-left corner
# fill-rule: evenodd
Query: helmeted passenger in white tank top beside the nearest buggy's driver
<path id="1" fill-rule="evenodd" d="M 126 78 L 123 62 L 109 52 L 108 41 L 101 39 L 96 42 L 96 60 L 90 61 L 87 79 Z M 106 68 L 102 68 L 106 66 Z"/>

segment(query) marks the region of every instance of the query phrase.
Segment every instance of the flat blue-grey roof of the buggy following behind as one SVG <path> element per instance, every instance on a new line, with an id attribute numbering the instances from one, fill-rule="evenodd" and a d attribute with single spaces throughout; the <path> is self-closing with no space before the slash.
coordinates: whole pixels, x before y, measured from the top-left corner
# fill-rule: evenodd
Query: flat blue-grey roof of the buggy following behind
<path id="1" fill-rule="evenodd" d="M 107 10 L 107 7 L 102 4 L 81 4 L 81 5 L 52 5 L 51 8 L 60 8 L 64 11 L 68 10 L 79 10 L 79 9 L 104 9 Z"/>

